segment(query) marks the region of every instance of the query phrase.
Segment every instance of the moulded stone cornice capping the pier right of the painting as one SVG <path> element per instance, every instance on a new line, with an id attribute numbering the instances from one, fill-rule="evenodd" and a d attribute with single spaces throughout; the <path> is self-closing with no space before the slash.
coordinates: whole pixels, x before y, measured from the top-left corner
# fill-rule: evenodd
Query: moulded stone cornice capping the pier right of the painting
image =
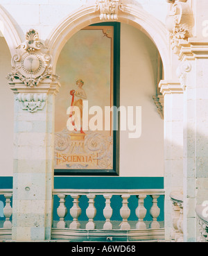
<path id="1" fill-rule="evenodd" d="M 184 92 L 180 82 L 175 81 L 161 80 L 159 88 L 163 96 L 165 94 L 182 94 Z"/>

